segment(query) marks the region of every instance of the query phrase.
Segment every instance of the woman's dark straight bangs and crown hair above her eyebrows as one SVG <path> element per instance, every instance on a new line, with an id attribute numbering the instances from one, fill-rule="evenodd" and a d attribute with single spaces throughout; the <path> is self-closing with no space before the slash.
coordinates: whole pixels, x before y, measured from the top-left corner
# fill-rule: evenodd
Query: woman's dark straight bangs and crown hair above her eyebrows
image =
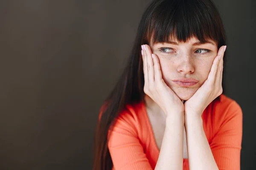
<path id="1" fill-rule="evenodd" d="M 215 5 L 201 0 L 158 0 L 150 8 L 144 40 L 146 43 L 186 43 L 196 37 L 201 43 L 213 41 L 218 46 L 224 29 Z"/>

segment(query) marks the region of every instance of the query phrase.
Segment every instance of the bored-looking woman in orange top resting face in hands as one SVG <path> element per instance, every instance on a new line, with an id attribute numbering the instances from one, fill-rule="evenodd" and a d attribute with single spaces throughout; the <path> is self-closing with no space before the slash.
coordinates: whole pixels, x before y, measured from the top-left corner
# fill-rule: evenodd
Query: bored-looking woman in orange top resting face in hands
<path id="1" fill-rule="evenodd" d="M 154 0 L 100 111 L 94 170 L 239 170 L 242 110 L 222 94 L 225 44 L 210 0 Z"/>

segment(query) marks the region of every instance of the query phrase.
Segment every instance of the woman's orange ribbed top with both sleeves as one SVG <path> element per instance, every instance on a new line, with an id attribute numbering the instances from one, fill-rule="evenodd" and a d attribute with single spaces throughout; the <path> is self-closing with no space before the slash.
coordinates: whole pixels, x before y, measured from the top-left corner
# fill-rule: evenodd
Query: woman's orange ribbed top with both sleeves
<path id="1" fill-rule="evenodd" d="M 240 170 L 242 110 L 224 94 L 202 114 L 204 132 L 219 170 Z M 115 170 L 153 170 L 159 149 L 143 102 L 121 112 L 109 136 L 108 148 Z M 189 170 L 183 158 L 183 170 Z"/>

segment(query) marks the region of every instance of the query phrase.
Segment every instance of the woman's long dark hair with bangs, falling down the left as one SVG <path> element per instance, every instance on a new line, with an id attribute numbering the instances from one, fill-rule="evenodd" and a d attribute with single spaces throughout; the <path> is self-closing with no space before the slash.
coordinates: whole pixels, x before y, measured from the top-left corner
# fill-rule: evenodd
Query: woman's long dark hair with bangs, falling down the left
<path id="1" fill-rule="evenodd" d="M 140 46 L 168 42 L 169 37 L 179 42 L 186 42 L 190 37 L 197 37 L 201 42 L 213 40 L 218 49 L 226 45 L 224 26 L 211 0 L 153 0 L 140 20 L 127 66 L 100 110 L 93 170 L 111 170 L 113 164 L 108 150 L 108 131 L 111 131 L 126 104 L 145 102 Z"/>

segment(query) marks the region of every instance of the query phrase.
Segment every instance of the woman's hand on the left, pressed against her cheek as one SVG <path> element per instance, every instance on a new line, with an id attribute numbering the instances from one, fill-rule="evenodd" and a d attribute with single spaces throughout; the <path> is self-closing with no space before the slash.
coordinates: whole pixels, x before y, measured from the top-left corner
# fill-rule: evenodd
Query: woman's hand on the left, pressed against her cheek
<path id="1" fill-rule="evenodd" d="M 162 78 L 160 62 L 148 45 L 142 45 L 144 92 L 156 102 L 167 115 L 169 112 L 184 112 L 183 101 L 170 89 Z"/>

